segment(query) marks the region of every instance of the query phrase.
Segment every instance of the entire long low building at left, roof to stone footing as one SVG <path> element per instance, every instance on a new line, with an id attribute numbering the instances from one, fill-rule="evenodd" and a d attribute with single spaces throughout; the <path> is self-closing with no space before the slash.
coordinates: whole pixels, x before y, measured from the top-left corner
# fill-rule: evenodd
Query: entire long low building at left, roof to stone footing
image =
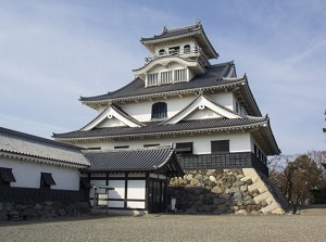
<path id="1" fill-rule="evenodd" d="M 87 213 L 89 165 L 80 148 L 0 127 L 0 219 Z"/>

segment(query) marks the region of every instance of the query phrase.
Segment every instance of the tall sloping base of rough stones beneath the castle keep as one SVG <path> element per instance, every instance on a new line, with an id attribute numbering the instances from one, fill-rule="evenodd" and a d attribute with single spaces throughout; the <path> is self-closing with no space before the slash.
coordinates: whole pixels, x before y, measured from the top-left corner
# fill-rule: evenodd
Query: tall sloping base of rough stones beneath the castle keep
<path id="1" fill-rule="evenodd" d="M 167 198 L 186 214 L 285 214 L 267 178 L 253 168 L 186 170 L 171 178 Z M 283 200 L 284 201 L 284 200 Z"/>

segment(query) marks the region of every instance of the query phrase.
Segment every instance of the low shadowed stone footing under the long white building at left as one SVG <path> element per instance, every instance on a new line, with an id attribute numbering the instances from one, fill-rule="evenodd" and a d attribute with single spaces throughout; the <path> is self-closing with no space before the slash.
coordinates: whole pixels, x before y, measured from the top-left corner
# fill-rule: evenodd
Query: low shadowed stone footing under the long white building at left
<path id="1" fill-rule="evenodd" d="M 53 219 L 64 216 L 80 216 L 89 213 L 88 202 L 4 202 L 0 203 L 0 220 L 5 219 Z"/>

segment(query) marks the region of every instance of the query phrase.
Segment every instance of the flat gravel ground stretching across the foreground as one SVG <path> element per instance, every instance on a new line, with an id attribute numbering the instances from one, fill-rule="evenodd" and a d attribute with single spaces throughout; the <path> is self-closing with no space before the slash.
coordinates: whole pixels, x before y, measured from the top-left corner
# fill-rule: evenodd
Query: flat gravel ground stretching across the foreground
<path id="1" fill-rule="evenodd" d="M 0 221 L 0 241 L 326 241 L 326 216 L 87 216 Z"/>

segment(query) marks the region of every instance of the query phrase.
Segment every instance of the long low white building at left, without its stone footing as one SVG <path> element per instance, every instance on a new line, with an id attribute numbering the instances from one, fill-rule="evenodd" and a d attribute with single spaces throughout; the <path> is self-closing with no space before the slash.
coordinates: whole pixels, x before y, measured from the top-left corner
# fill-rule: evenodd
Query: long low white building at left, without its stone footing
<path id="1" fill-rule="evenodd" d="M 84 186 L 79 169 L 89 165 L 80 148 L 0 128 L 1 201 L 74 200 Z"/>

